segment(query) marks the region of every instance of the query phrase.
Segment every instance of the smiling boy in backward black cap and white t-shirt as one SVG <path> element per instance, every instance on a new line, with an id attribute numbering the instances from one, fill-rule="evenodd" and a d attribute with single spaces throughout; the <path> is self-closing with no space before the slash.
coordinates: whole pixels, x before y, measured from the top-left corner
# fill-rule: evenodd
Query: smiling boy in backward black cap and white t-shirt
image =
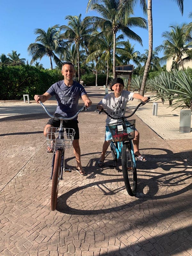
<path id="1" fill-rule="evenodd" d="M 124 116 L 125 110 L 126 110 L 126 104 L 129 100 L 138 99 L 142 101 L 147 101 L 147 97 L 141 96 L 139 93 L 133 93 L 124 91 L 124 81 L 122 78 L 117 77 L 112 80 L 111 83 L 111 93 L 107 94 L 97 105 L 97 109 L 101 110 L 103 108 L 106 108 L 106 111 L 114 117 L 117 116 Z M 106 132 L 105 132 L 105 141 L 103 143 L 102 147 L 102 153 L 101 157 L 98 161 L 98 166 L 102 167 L 104 165 L 105 160 L 105 154 L 108 149 L 108 146 L 111 143 L 112 140 L 112 134 L 109 131 L 108 124 L 116 123 L 117 121 L 115 119 L 110 118 L 107 116 L 106 119 Z M 133 148 L 134 148 L 134 154 L 135 157 L 145 162 L 146 158 L 142 156 L 139 152 L 139 132 L 135 130 L 135 138 L 133 139 Z"/>

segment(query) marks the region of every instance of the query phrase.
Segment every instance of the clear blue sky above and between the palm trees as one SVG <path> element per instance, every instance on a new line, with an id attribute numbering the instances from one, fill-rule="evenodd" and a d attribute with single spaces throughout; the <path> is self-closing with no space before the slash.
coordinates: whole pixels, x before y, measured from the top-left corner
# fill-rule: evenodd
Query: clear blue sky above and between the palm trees
<path id="1" fill-rule="evenodd" d="M 70 0 L 54 2 L 50 0 L 18 0 L 0 1 L 0 54 L 12 52 L 20 53 L 20 58 L 25 58 L 30 62 L 31 56 L 28 55 L 27 48 L 30 43 L 34 43 L 36 35 L 34 29 L 42 28 L 47 31 L 48 27 L 55 24 L 67 25 L 65 17 L 67 15 L 82 14 L 85 16 L 98 16 L 95 12 L 86 13 L 88 0 Z M 189 23 L 192 19 L 188 18 L 192 11 L 192 1 L 184 0 L 184 13 L 180 14 L 179 8 L 173 0 L 153 0 L 153 46 L 154 48 L 163 42 L 162 32 L 170 30 L 170 25 Z M 144 17 L 140 6 L 135 9 L 134 16 Z M 147 17 L 145 17 L 147 19 Z M 143 46 L 135 44 L 135 50 L 144 53 L 148 49 L 148 31 L 139 28 L 132 28 L 143 41 Z M 161 57 L 161 54 L 159 54 Z M 48 57 L 40 60 L 44 68 L 50 68 Z M 55 65 L 53 64 L 53 67 Z"/>

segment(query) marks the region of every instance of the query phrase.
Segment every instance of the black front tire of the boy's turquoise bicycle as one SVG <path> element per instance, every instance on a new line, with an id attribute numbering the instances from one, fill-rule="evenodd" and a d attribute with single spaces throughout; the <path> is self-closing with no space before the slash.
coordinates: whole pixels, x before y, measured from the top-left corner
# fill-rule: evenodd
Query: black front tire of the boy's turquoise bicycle
<path id="1" fill-rule="evenodd" d="M 129 143 L 131 142 L 124 143 L 122 147 L 122 169 L 127 193 L 130 196 L 135 196 L 137 192 L 137 170 L 134 168 Z"/>

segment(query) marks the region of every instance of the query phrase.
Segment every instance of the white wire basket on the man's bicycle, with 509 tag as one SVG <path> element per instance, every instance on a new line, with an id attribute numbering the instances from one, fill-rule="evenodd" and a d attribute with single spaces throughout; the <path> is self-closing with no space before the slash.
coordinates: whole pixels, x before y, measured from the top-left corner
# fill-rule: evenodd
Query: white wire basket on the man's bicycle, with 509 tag
<path id="1" fill-rule="evenodd" d="M 50 129 L 51 128 L 51 129 Z M 72 128 L 63 128 L 63 132 L 59 133 L 57 128 L 47 128 L 47 145 L 50 148 L 71 148 L 75 130 Z"/>

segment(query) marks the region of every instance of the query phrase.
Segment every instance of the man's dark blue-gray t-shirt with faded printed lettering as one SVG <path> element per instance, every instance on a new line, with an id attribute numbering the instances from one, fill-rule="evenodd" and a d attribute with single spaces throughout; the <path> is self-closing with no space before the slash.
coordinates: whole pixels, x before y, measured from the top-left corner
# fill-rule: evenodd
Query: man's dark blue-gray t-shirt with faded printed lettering
<path id="1" fill-rule="evenodd" d="M 73 81 L 72 86 L 67 86 L 64 84 L 64 80 L 52 84 L 47 92 L 56 97 L 57 109 L 55 113 L 65 117 L 71 117 L 76 114 L 79 97 L 87 94 L 83 85 Z M 77 120 L 77 117 L 73 120 Z"/>

